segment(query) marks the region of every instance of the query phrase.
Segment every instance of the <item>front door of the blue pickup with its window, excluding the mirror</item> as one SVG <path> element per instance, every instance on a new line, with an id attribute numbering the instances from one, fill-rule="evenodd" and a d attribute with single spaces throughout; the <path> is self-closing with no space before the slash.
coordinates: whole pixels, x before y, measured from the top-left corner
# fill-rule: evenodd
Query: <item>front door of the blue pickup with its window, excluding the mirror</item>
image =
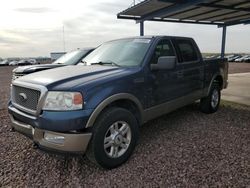
<path id="1" fill-rule="evenodd" d="M 162 39 L 157 43 L 150 63 L 157 64 L 158 58 L 161 56 L 176 56 L 169 39 Z M 183 75 L 180 74 L 181 66 L 176 64 L 172 70 L 151 70 L 151 83 L 148 88 L 150 92 L 149 107 L 183 96 L 185 91 L 183 91 Z"/>

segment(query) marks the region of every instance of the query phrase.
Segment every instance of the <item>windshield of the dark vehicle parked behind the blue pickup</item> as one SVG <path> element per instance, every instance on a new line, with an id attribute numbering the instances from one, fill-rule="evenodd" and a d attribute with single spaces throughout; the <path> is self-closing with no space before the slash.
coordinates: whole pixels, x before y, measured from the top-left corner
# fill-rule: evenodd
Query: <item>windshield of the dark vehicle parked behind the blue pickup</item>
<path id="1" fill-rule="evenodd" d="M 52 64 L 75 65 L 87 52 L 88 52 L 87 50 L 76 50 L 68 52 L 65 55 L 61 56 L 56 61 L 54 61 Z"/>

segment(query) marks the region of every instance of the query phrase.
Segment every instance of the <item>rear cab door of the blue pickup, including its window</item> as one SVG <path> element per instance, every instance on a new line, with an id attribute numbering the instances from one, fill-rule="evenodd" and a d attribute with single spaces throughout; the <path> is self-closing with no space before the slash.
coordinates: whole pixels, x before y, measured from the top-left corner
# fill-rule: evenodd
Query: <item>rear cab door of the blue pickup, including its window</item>
<path id="1" fill-rule="evenodd" d="M 201 93 L 204 87 L 204 63 L 197 45 L 187 38 L 176 38 L 173 43 L 179 54 L 179 65 L 182 67 L 179 76 L 183 77 L 185 95 Z"/>

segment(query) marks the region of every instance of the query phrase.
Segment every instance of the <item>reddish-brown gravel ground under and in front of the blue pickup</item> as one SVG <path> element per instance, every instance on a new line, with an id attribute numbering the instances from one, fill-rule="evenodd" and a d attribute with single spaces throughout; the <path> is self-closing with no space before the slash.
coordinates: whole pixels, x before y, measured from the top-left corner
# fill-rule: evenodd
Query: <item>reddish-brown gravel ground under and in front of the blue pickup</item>
<path id="1" fill-rule="evenodd" d="M 0 111 L 0 187 L 247 187 L 250 107 L 226 103 L 206 115 L 196 104 L 141 128 L 130 160 L 103 170 L 85 157 L 32 149 Z"/>

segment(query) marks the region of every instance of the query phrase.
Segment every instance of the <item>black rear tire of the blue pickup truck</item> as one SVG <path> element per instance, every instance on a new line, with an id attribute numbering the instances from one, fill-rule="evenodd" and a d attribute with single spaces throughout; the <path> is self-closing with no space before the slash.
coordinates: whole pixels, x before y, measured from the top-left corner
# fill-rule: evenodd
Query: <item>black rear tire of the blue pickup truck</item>
<path id="1" fill-rule="evenodd" d="M 216 103 L 216 105 L 214 105 L 215 103 L 213 104 L 214 92 L 218 93 L 218 102 Z M 209 95 L 200 100 L 200 110 L 206 114 L 211 114 L 216 112 L 220 105 L 220 98 L 221 98 L 220 87 L 217 83 L 213 83 L 209 91 Z"/>

